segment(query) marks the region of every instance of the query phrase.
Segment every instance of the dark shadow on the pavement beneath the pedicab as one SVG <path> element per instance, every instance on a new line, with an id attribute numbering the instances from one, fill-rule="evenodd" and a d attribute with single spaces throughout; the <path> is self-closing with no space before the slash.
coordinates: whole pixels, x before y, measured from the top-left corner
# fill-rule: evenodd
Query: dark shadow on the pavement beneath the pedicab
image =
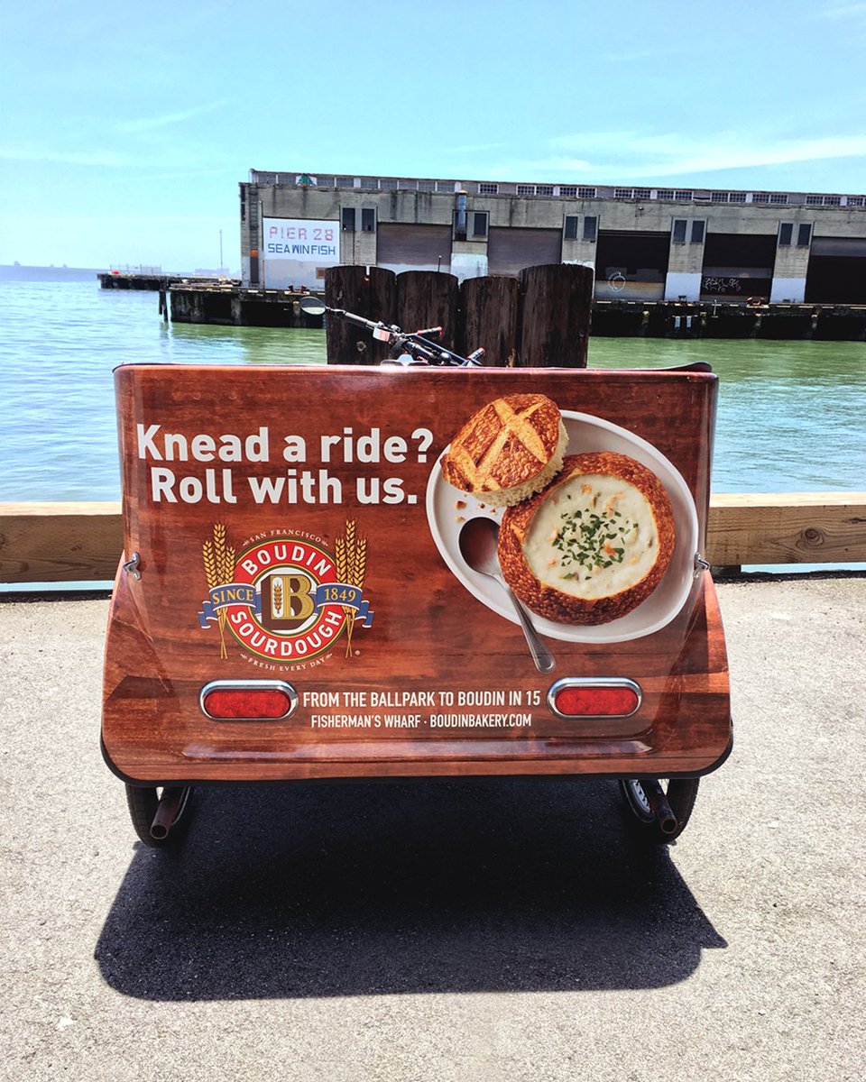
<path id="1" fill-rule="evenodd" d="M 655 988 L 724 946 L 614 782 L 485 779 L 197 789 L 96 959 L 128 995 L 224 1000 Z"/>

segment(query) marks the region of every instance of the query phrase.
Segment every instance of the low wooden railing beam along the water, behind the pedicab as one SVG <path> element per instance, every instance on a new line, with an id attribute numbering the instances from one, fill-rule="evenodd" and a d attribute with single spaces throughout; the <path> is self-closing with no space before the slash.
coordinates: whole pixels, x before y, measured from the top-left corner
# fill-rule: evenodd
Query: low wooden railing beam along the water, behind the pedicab
<path id="1" fill-rule="evenodd" d="M 0 584 L 113 579 L 118 503 L 0 503 Z M 866 492 L 716 496 L 713 566 L 866 563 Z"/>

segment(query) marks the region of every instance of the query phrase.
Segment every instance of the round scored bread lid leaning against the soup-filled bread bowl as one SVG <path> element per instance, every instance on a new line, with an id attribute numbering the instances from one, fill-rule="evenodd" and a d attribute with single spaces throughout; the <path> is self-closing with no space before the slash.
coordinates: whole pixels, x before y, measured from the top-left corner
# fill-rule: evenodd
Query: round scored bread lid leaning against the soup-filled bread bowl
<path id="1" fill-rule="evenodd" d="M 508 395 L 474 413 L 442 462 L 445 479 L 497 506 L 540 491 L 562 466 L 568 435 L 543 395 Z"/>

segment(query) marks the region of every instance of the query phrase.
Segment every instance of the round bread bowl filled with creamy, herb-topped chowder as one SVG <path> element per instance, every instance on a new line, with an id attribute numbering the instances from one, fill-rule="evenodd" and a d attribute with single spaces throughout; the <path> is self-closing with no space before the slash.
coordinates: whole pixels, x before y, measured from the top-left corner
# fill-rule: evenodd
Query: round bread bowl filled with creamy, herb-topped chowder
<path id="1" fill-rule="evenodd" d="M 674 541 L 673 510 L 651 470 L 613 451 L 569 454 L 548 488 L 506 511 L 499 563 L 539 616 L 607 623 L 653 593 Z"/>

